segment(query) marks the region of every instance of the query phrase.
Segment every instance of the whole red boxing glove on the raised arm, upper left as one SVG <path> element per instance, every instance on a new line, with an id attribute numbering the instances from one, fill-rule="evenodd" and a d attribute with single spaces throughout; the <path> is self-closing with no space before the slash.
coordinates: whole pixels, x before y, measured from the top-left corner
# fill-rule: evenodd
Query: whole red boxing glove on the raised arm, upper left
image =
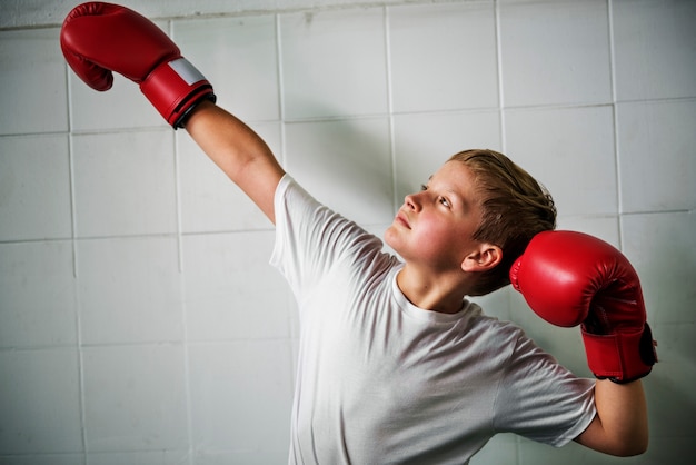
<path id="1" fill-rule="evenodd" d="M 118 4 L 76 7 L 63 22 L 60 47 L 72 70 L 96 90 L 109 90 L 111 71 L 140 85 L 157 111 L 175 128 L 202 100 L 215 101 L 212 86 L 161 29 Z"/>

